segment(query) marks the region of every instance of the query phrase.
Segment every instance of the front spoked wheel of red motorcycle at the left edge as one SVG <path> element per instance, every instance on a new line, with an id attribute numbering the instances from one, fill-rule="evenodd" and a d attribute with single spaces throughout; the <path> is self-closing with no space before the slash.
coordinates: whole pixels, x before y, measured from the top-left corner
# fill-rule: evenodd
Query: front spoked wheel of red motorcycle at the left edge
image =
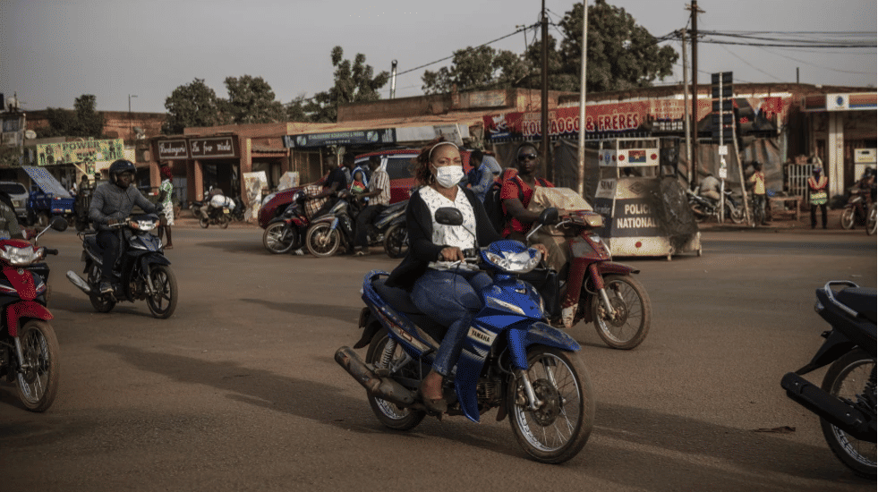
<path id="1" fill-rule="evenodd" d="M 21 403 L 30 411 L 47 411 L 58 393 L 61 370 L 58 339 L 46 321 L 31 319 L 19 331 L 21 339 L 20 372 L 15 377 Z"/>

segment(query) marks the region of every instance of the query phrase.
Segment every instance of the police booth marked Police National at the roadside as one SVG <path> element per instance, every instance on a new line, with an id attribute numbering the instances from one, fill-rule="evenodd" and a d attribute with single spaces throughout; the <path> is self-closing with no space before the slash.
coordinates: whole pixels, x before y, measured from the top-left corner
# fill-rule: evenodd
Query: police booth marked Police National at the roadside
<path id="1" fill-rule="evenodd" d="M 601 140 L 594 210 L 605 217 L 598 233 L 613 256 L 701 256 L 701 233 L 682 187 L 675 178 L 661 176 L 659 143 L 657 138 Z"/>

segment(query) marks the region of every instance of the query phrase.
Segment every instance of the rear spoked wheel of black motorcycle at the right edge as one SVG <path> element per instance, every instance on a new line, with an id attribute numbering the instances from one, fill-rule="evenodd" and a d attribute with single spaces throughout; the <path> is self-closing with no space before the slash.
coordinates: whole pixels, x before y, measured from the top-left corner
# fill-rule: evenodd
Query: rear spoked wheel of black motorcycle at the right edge
<path id="1" fill-rule="evenodd" d="M 826 371 L 822 387 L 829 394 L 853 403 L 859 401 L 874 412 L 875 360 L 862 349 L 848 352 Z M 861 441 L 823 419 L 820 427 L 826 443 L 841 462 L 861 477 L 875 478 L 874 441 Z"/>

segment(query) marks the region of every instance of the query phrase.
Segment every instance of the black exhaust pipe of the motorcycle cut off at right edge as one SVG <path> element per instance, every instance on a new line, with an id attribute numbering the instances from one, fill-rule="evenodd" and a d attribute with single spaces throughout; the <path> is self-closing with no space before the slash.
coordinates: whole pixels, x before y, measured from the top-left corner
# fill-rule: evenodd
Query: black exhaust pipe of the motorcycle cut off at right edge
<path id="1" fill-rule="evenodd" d="M 823 391 L 806 378 L 789 372 L 780 380 L 780 386 L 787 390 L 787 396 L 794 402 L 814 412 L 818 417 L 857 439 L 875 442 L 875 422 L 870 421 L 852 405 L 842 402 L 838 397 Z"/>

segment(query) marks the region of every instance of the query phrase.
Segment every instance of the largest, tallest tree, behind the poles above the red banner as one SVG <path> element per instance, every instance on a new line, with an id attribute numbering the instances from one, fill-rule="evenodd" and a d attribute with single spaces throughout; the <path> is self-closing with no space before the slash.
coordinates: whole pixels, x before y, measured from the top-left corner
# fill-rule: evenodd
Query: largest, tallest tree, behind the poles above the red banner
<path id="1" fill-rule="evenodd" d="M 564 15 L 561 71 L 580 76 L 583 53 L 583 4 Z M 595 0 L 588 8 L 586 89 L 593 92 L 649 87 L 672 73 L 678 54 L 659 47 L 656 38 L 624 8 Z"/>

